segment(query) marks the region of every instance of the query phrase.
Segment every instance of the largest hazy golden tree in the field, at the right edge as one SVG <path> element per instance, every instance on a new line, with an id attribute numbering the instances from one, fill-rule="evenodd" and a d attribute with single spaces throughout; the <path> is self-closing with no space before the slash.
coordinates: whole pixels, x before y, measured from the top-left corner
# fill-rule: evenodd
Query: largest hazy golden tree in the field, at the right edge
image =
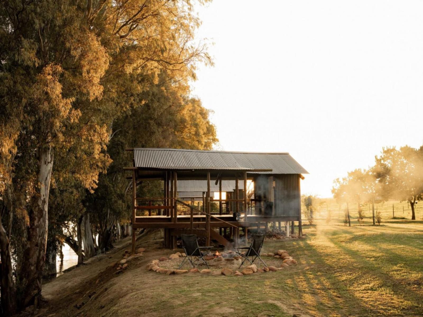
<path id="1" fill-rule="evenodd" d="M 416 219 L 415 204 L 423 194 L 423 154 L 422 150 L 403 146 L 384 148 L 376 156 L 374 173 L 386 198 L 394 198 L 410 203 L 412 220 Z"/>

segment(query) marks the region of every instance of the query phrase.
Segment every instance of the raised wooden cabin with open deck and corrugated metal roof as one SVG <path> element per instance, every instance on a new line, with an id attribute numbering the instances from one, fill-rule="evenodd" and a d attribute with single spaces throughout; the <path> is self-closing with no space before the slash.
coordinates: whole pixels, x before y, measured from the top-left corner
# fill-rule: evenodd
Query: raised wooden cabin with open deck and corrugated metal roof
<path id="1" fill-rule="evenodd" d="M 128 151 L 134 153 L 133 166 L 125 168 L 132 171 L 134 252 L 135 230 L 140 228 L 164 229 L 168 248 L 176 247 L 181 233 L 195 233 L 206 237 L 207 245 L 213 239 L 230 248 L 230 240 L 237 246 L 240 234 L 247 237 L 249 228 L 260 231 L 268 223 L 279 223 L 280 227 L 281 222 L 291 222 L 294 228 L 297 221 L 301 234 L 300 179 L 308 172 L 288 153 L 148 148 Z M 137 183 L 142 179 L 162 181 L 163 197 L 149 201 L 137 197 Z M 249 183 L 253 184 L 250 192 Z M 229 193 L 225 198 L 223 189 Z M 192 200 L 188 203 L 180 199 L 181 192 L 204 193 L 204 208 L 198 208 Z M 213 192 L 218 192 L 219 198 Z M 215 214 L 211 212 L 213 202 L 219 205 Z M 224 206 L 231 206 L 231 210 Z"/>

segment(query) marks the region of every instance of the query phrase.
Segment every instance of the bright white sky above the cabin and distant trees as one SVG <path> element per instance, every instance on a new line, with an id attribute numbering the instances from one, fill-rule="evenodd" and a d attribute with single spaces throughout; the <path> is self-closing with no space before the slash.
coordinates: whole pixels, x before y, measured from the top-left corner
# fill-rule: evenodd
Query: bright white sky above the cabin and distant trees
<path id="1" fill-rule="evenodd" d="M 198 8 L 214 42 L 193 94 L 220 149 L 289 152 L 302 193 L 367 168 L 382 146 L 423 144 L 423 2 L 228 1 Z"/>

